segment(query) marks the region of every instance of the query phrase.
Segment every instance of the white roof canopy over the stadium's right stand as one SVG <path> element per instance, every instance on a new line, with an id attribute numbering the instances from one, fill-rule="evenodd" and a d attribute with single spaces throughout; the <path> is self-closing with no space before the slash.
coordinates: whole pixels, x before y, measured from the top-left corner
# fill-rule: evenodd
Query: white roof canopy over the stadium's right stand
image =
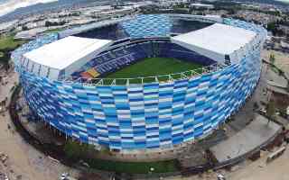
<path id="1" fill-rule="evenodd" d="M 214 23 L 198 31 L 172 37 L 172 41 L 203 56 L 224 61 L 225 55 L 236 58 L 238 49 L 245 49 L 255 37 L 254 31 Z"/>

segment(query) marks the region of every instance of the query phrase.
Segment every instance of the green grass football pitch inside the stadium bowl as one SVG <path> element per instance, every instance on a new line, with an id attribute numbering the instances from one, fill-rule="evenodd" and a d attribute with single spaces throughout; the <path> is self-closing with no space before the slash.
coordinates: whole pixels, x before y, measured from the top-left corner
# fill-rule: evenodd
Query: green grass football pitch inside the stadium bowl
<path id="1" fill-rule="evenodd" d="M 162 76 L 198 69 L 200 64 L 182 61 L 176 58 L 144 58 L 133 65 L 124 67 L 107 75 L 107 78 L 135 78 L 144 76 Z"/>

